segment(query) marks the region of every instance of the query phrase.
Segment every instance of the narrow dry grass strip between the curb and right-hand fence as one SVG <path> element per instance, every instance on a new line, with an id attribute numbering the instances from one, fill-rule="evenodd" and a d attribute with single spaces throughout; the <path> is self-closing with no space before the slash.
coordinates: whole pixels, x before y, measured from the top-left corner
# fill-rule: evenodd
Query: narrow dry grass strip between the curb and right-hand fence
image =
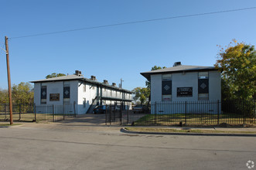
<path id="1" fill-rule="evenodd" d="M 256 134 L 256 131 L 216 131 L 200 129 L 172 129 L 172 128 L 125 128 L 128 131 L 160 132 L 160 133 L 204 133 L 204 134 Z"/>

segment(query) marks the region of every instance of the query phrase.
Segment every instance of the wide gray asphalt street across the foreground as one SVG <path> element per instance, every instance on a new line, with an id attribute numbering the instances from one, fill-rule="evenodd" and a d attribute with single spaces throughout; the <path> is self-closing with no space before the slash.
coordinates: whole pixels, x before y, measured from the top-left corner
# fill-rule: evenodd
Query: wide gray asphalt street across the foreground
<path id="1" fill-rule="evenodd" d="M 256 162 L 255 137 L 124 134 L 120 128 L 0 128 L 0 169 L 248 169 L 249 160 Z"/>

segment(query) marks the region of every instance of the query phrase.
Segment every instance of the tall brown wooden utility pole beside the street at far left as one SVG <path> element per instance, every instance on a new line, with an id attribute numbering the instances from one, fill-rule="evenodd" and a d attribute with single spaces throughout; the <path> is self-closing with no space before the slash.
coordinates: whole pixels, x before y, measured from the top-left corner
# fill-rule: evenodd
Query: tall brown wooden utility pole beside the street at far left
<path id="1" fill-rule="evenodd" d="M 5 50 L 6 50 L 6 64 L 7 64 L 7 76 L 8 76 L 8 87 L 9 87 L 9 110 L 10 110 L 10 124 L 13 124 L 12 121 L 12 86 L 11 86 L 11 75 L 10 75 L 10 66 L 9 66 L 9 46 L 8 38 L 5 36 Z"/>

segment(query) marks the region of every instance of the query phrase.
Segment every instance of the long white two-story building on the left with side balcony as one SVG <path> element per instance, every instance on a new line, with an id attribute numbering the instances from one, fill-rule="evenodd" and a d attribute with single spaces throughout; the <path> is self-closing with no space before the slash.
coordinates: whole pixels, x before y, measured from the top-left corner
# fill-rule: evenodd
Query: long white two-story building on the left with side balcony
<path id="1" fill-rule="evenodd" d="M 124 102 L 125 108 L 131 109 L 131 91 L 116 87 L 115 83 L 109 85 L 108 80 L 98 82 L 95 76 L 87 79 L 78 70 L 73 75 L 35 80 L 31 83 L 34 83 L 34 103 L 42 108 L 55 105 L 63 108 L 61 112 L 70 110 L 76 114 L 87 114 L 92 113 L 97 105 Z"/>

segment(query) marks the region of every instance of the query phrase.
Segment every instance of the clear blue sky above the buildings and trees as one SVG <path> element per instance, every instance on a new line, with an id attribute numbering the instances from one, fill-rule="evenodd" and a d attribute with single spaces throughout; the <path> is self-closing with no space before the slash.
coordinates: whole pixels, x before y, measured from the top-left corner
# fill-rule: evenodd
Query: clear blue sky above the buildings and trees
<path id="1" fill-rule="evenodd" d="M 2 0 L 0 46 L 9 39 L 12 84 L 74 73 L 145 87 L 140 73 L 152 66 L 213 66 L 232 39 L 256 45 L 256 9 L 142 22 L 131 25 L 32 36 L 121 22 L 255 7 L 254 0 Z M 0 49 L 0 88 L 8 87 L 5 52 Z"/>

